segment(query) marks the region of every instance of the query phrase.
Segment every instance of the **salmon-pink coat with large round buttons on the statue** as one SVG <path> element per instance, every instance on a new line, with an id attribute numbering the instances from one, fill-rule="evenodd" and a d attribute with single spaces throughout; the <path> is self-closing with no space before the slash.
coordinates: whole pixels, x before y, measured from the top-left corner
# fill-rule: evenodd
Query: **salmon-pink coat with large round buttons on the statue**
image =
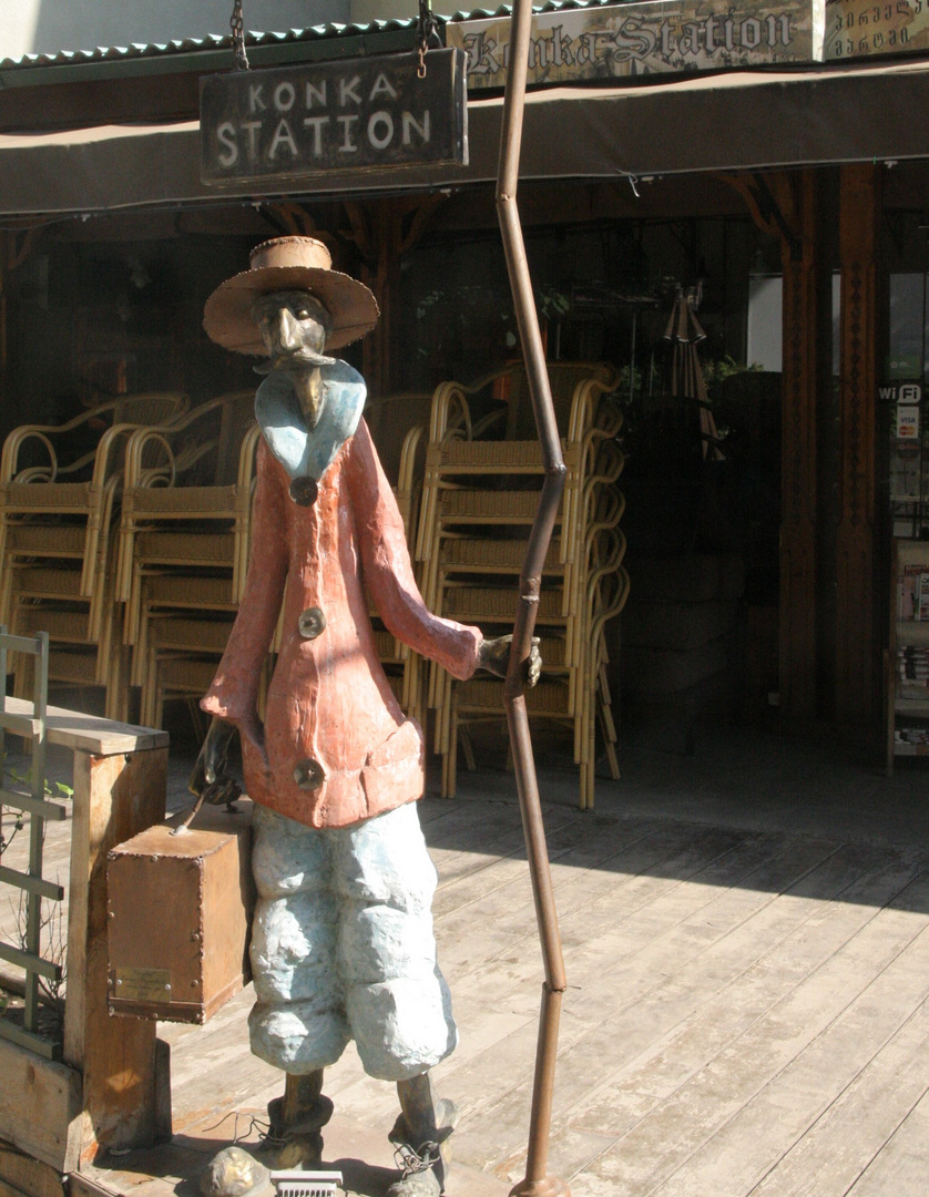
<path id="1" fill-rule="evenodd" d="M 238 727 L 250 797 L 311 827 L 344 827 L 420 797 L 424 784 L 423 731 L 405 718 L 378 661 L 362 569 L 393 634 L 455 678 L 474 673 L 481 633 L 426 609 L 364 420 L 323 475 L 315 504 L 299 506 L 289 486 L 262 440 L 245 593 L 200 705 Z M 259 676 L 281 600 L 262 737 Z M 321 632 L 312 615 L 300 631 L 311 608 L 323 614 Z"/>

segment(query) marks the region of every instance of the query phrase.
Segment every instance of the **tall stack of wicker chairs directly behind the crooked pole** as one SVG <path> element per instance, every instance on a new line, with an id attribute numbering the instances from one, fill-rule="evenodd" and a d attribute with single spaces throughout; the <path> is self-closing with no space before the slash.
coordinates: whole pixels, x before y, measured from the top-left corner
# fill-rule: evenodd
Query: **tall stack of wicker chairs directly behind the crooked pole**
<path id="1" fill-rule="evenodd" d="M 619 529 L 624 500 L 615 485 L 624 464 L 615 439 L 621 414 L 608 397 L 618 377 L 611 366 L 589 363 L 552 364 L 549 377 L 567 473 L 536 620 L 545 674 L 527 693 L 527 706 L 530 717 L 570 728 L 581 806 L 591 807 L 597 721 L 619 776 L 603 637 L 629 591 Z M 523 370 L 512 367 L 508 383 L 506 408 L 478 424 L 466 388 L 444 383 L 436 391 L 417 539 L 429 606 L 487 634 L 512 626 L 544 476 Z M 491 439 L 500 424 L 506 436 Z M 442 791 L 453 796 L 459 743 L 473 767 L 468 728 L 502 721 L 503 683 L 455 682 L 433 667 L 427 701 L 443 760 Z"/>

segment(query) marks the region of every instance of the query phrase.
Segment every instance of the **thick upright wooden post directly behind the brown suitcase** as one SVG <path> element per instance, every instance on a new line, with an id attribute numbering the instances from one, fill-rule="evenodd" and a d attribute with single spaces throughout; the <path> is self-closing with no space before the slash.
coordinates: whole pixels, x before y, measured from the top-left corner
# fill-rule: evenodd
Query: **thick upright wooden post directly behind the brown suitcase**
<path id="1" fill-rule="evenodd" d="M 164 818 L 168 751 L 74 758 L 65 1059 L 84 1074 L 83 1153 L 151 1146 L 156 1023 L 107 1008 L 107 853 Z M 152 912 L 153 916 L 157 912 Z"/>

